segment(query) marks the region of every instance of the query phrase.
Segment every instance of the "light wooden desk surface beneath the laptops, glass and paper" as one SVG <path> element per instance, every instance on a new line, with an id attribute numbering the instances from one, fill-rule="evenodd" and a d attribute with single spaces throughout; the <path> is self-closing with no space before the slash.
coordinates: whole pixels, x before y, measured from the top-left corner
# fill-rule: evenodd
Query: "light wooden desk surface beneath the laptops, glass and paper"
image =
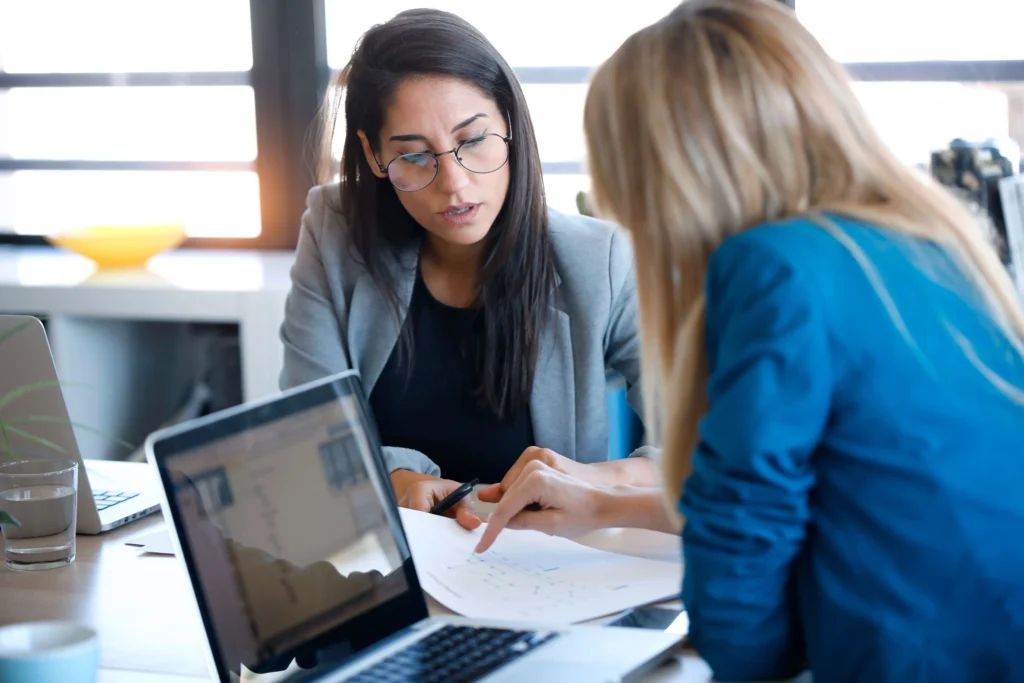
<path id="1" fill-rule="evenodd" d="M 98 537 L 78 537 L 78 557 L 40 572 L 0 569 L 0 625 L 74 620 L 100 638 L 99 683 L 198 683 L 208 680 L 203 626 L 187 578 L 173 557 L 147 555 L 124 542 L 163 524 L 160 515 Z M 675 537 L 609 529 L 581 541 L 605 550 L 676 557 Z M 429 600 L 432 614 L 447 612 Z M 653 683 L 707 683 L 708 667 L 678 657 L 649 677 Z"/>

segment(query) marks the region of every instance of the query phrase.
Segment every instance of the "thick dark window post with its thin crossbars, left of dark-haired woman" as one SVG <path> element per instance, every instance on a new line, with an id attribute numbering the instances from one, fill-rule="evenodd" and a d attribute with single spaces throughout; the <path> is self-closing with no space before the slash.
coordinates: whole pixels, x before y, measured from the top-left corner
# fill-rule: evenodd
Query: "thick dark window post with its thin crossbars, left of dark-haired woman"
<path id="1" fill-rule="evenodd" d="M 189 238 L 200 249 L 294 249 L 306 193 L 315 182 L 308 134 L 330 78 L 323 0 L 249 0 L 253 63 L 248 71 L 8 74 L 0 91 L 36 87 L 239 86 L 253 89 L 256 159 L 238 161 L 89 161 L 0 159 L 0 173 L 53 171 L 255 171 L 260 233 L 255 238 Z M 47 245 L 36 234 L 0 232 L 0 245 Z"/>

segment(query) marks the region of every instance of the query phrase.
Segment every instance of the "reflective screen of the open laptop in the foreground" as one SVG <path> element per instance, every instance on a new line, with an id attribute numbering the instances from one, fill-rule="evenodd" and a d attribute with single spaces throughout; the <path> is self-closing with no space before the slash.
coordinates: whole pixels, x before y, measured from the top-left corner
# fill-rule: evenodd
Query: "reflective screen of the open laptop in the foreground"
<path id="1" fill-rule="evenodd" d="M 426 616 L 358 380 L 158 438 L 220 677 L 316 666 Z"/>

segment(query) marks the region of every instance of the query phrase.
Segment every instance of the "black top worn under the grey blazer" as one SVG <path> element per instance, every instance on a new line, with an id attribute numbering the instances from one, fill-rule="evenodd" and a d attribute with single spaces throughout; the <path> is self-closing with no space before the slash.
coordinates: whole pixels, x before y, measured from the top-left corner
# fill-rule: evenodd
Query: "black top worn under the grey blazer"
<path id="1" fill-rule="evenodd" d="M 445 479 L 496 483 L 534 445 L 534 427 L 529 411 L 501 421 L 474 396 L 480 383 L 470 352 L 479 313 L 437 301 L 417 275 L 406 316 L 413 332 L 413 372 L 401 342 L 395 344 L 370 407 L 384 445 L 423 453 Z"/>

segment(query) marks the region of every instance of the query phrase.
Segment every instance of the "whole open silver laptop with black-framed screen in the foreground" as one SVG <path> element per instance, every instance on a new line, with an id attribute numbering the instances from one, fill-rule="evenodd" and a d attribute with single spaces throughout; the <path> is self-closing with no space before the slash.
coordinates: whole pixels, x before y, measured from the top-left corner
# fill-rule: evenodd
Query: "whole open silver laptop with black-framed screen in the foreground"
<path id="1" fill-rule="evenodd" d="M 216 680 L 618 681 L 680 644 L 428 616 L 354 372 L 160 430 L 145 451 Z"/>

